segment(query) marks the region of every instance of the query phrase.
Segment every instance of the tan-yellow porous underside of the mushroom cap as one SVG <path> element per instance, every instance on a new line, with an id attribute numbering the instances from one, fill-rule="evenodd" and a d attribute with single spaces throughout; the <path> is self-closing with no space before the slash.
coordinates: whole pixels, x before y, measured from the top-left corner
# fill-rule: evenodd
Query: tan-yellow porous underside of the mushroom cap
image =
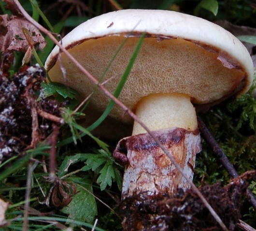
<path id="1" fill-rule="evenodd" d="M 87 71 L 104 82 L 108 90 L 114 92 L 139 40 L 128 38 L 103 76 L 124 39 L 123 36 L 90 39 L 71 48 L 69 52 Z M 218 57 L 218 53 L 207 51 L 184 39 L 145 38 L 118 98 L 132 110 L 143 97 L 156 93 L 183 93 L 196 104 L 213 102 L 229 95 L 244 77 L 244 72 L 225 67 Z M 53 81 L 78 90 L 81 100 L 85 99 L 95 89 L 95 85 L 63 53 L 61 62 L 66 68 L 66 78 L 58 61 L 49 71 L 49 76 Z M 108 102 L 109 98 L 97 90 L 90 105 L 93 110 L 102 112 Z M 118 106 L 114 107 L 110 115 L 123 122 L 132 122 Z"/>

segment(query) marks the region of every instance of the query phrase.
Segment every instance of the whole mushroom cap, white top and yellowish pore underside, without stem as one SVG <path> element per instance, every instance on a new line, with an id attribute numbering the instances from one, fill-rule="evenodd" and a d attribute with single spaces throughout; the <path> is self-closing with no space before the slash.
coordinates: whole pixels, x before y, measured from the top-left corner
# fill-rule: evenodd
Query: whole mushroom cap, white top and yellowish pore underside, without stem
<path id="1" fill-rule="evenodd" d="M 127 40 L 103 78 L 114 92 L 142 33 L 146 33 L 132 73 L 119 97 L 131 109 L 142 97 L 155 93 L 184 93 L 194 104 L 215 104 L 246 92 L 254 67 L 242 43 L 220 26 L 204 19 L 162 10 L 122 10 L 106 13 L 77 26 L 62 39 L 81 64 L 100 79 L 120 44 Z M 45 68 L 53 81 L 64 82 L 87 96 L 94 85 L 62 54 L 67 80 L 57 61 L 59 48 L 51 52 Z M 57 63 L 56 63 L 57 61 Z M 55 66 L 54 66 L 55 65 Z M 51 69 L 51 70 L 50 70 Z M 97 92 L 92 103 L 104 110 L 108 98 Z M 116 107 L 112 116 L 127 122 Z"/>

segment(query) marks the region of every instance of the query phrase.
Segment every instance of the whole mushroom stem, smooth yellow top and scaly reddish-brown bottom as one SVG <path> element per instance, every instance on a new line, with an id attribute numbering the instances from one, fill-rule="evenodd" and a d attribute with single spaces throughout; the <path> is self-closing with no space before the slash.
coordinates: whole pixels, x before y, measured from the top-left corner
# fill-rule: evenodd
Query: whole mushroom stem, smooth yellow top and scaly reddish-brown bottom
<path id="1" fill-rule="evenodd" d="M 196 154 L 201 149 L 196 112 L 190 98 L 180 93 L 152 94 L 137 104 L 136 115 L 154 131 L 192 179 Z M 132 136 L 121 140 L 119 147 L 120 150 L 126 148 L 128 158 L 123 198 L 140 192 L 172 194 L 178 187 L 189 187 L 168 156 L 137 122 Z"/>

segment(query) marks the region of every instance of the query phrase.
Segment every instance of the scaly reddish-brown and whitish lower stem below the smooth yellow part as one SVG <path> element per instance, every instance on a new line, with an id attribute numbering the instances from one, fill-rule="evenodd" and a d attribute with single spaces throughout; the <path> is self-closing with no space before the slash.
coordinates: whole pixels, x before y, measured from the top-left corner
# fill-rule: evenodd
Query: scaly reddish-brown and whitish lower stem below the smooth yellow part
<path id="1" fill-rule="evenodd" d="M 193 178 L 196 154 L 201 151 L 199 131 L 170 128 L 154 131 L 190 179 Z M 127 151 L 125 156 L 122 153 Z M 123 199 L 147 194 L 175 193 L 177 188 L 189 188 L 188 182 L 171 160 L 148 134 L 139 134 L 119 141 L 114 157 L 126 163 L 123 180 Z"/>

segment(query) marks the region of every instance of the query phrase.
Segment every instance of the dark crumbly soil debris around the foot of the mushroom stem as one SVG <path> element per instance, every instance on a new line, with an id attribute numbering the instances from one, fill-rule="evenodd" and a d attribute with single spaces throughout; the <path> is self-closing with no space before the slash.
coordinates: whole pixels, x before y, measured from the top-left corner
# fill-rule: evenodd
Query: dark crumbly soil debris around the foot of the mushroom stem
<path id="1" fill-rule="evenodd" d="M 199 191 L 210 203 L 228 230 L 233 231 L 240 218 L 244 180 L 255 178 L 251 171 L 232 180 L 225 187 L 220 182 L 202 185 Z M 125 217 L 123 225 L 129 231 L 221 231 L 216 220 L 193 190 L 178 190 L 177 194 L 148 195 L 142 192 L 124 199 L 118 206 Z"/>

